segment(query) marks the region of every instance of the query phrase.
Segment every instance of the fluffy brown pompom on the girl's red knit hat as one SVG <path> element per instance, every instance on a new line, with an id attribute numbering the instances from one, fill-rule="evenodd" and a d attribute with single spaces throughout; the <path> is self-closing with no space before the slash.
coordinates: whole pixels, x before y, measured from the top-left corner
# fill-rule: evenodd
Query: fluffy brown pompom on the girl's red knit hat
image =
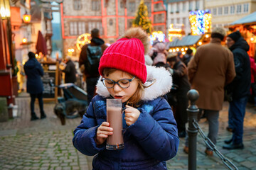
<path id="1" fill-rule="evenodd" d="M 137 38 L 142 41 L 144 46 L 144 54 L 147 54 L 149 51 L 149 37 L 142 28 L 135 27 L 129 28 L 121 38 Z"/>

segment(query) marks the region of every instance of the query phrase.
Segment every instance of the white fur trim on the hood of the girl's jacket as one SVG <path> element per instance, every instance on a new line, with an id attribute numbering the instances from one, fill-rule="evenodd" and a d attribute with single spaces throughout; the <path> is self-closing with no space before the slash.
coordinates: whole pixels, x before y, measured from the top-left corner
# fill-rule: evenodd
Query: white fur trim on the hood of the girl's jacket
<path id="1" fill-rule="evenodd" d="M 145 86 L 149 86 L 154 79 L 154 84 L 144 89 L 142 101 L 153 100 L 159 96 L 167 94 L 171 90 L 172 78 L 171 74 L 164 67 L 146 66 L 147 77 Z M 101 79 L 101 77 L 100 77 Z M 107 88 L 102 84 L 100 79 L 97 81 L 97 94 L 103 97 L 109 97 L 110 93 Z"/>

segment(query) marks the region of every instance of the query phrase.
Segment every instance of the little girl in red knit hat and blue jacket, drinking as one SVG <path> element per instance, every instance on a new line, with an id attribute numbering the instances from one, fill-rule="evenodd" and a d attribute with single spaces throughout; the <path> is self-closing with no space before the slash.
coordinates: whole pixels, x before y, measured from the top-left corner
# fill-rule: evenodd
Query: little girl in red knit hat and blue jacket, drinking
<path id="1" fill-rule="evenodd" d="M 93 169 L 167 169 L 166 160 L 178 151 L 176 121 L 161 96 L 171 89 L 171 75 L 164 68 L 146 67 L 148 36 L 131 28 L 107 47 L 100 59 L 97 96 L 74 131 L 73 145 L 82 154 L 95 155 Z M 152 81 L 154 81 L 152 83 Z M 113 134 L 106 121 L 106 99 L 122 99 L 124 149 L 108 150 Z"/>

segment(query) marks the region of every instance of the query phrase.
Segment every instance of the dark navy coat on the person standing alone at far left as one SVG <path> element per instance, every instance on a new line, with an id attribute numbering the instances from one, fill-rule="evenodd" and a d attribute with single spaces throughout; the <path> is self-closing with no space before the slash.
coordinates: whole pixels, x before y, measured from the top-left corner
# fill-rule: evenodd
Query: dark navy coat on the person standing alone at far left
<path id="1" fill-rule="evenodd" d="M 27 92 L 29 94 L 40 94 L 43 92 L 43 67 L 36 58 L 29 59 L 24 64 L 25 74 L 27 76 Z"/>

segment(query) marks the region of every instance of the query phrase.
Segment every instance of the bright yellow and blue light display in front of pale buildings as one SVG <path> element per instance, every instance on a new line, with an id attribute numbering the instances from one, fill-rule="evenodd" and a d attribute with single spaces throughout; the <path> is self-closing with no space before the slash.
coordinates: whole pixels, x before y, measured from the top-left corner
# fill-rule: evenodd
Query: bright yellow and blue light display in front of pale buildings
<path id="1" fill-rule="evenodd" d="M 191 11 L 189 13 L 189 21 L 192 35 L 210 33 L 211 14 L 208 9 L 205 11 Z"/>

